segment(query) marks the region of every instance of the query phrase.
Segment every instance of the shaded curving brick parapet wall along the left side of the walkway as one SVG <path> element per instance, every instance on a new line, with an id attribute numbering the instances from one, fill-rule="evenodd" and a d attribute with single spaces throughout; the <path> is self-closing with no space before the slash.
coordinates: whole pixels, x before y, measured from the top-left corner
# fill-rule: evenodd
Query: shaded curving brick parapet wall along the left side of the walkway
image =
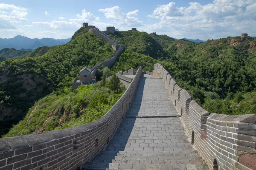
<path id="1" fill-rule="evenodd" d="M 0 170 L 80 170 L 108 144 L 137 88 L 142 68 L 102 118 L 81 126 L 0 138 Z"/>

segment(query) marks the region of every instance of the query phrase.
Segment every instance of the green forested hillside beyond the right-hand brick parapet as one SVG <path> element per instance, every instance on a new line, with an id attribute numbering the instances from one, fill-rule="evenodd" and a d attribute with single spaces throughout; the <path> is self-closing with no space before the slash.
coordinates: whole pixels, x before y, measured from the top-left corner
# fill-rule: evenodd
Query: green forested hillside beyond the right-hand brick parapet
<path id="1" fill-rule="evenodd" d="M 120 32 L 120 33 L 119 33 Z M 158 60 L 143 54 L 144 49 L 154 46 L 144 32 L 115 32 L 119 42 L 126 42 L 126 51 L 113 69 L 137 69 L 139 65 L 151 68 L 153 62 L 160 62 L 207 111 L 222 114 L 254 113 L 256 109 L 256 38 L 227 37 L 219 40 L 195 43 L 188 40 L 174 40 L 166 35 L 150 36 L 161 45 Z M 119 36 L 118 36 L 119 35 Z M 136 35 L 136 37 L 135 37 Z M 140 43 L 140 42 L 143 43 Z M 137 45 L 140 43 L 140 45 Z M 159 46 L 157 44 L 157 47 Z M 134 48 L 136 47 L 136 49 Z M 157 48 L 157 49 L 161 49 Z M 133 51 L 136 51 L 134 53 Z M 157 51 L 159 52 L 159 51 Z M 140 54 L 137 54 L 140 53 Z M 161 57 L 160 57 L 161 56 Z M 125 70 L 125 69 L 124 69 Z"/>

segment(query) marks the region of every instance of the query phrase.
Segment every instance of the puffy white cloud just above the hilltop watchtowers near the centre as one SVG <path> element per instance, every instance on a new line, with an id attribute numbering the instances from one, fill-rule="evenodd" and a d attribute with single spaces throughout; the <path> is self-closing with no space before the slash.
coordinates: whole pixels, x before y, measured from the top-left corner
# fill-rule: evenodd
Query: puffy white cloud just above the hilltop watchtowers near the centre
<path id="1" fill-rule="evenodd" d="M 137 17 L 137 12 L 139 10 L 128 12 L 124 14 L 119 6 L 114 6 L 111 8 L 99 9 L 103 12 L 107 19 L 111 19 L 114 23 L 119 26 L 141 26 L 142 21 Z"/>

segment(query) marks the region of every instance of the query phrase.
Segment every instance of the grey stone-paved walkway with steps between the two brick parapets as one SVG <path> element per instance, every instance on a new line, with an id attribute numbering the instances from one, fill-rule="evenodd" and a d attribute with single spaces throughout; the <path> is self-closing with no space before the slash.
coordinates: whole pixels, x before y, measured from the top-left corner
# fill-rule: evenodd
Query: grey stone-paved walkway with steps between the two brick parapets
<path id="1" fill-rule="evenodd" d="M 162 79 L 140 78 L 128 114 L 85 170 L 208 170 L 177 115 Z"/>

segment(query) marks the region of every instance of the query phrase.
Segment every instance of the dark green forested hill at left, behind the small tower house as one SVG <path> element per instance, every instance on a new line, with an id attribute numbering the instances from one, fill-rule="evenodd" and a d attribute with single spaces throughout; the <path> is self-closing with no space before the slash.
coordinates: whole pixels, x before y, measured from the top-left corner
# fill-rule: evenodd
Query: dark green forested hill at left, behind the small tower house
<path id="1" fill-rule="evenodd" d="M 91 33 L 35 51 L 32 57 L 0 63 L 0 134 L 23 119 L 38 99 L 54 89 L 70 87 L 84 65 L 92 67 L 113 54 L 111 45 Z"/>

